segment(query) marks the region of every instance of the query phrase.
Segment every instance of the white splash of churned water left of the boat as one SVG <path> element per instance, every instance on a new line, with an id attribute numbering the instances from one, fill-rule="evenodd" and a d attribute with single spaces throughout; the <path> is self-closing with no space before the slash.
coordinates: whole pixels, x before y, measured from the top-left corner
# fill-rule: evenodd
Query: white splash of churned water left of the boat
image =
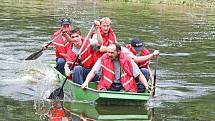
<path id="1" fill-rule="evenodd" d="M 14 75 L 0 80 L 2 96 L 23 101 L 44 100 L 55 88 L 56 78 L 53 76 L 55 74 L 47 64 L 41 61 L 24 61 L 15 65 L 14 70 L 11 70 L 15 71 Z"/>

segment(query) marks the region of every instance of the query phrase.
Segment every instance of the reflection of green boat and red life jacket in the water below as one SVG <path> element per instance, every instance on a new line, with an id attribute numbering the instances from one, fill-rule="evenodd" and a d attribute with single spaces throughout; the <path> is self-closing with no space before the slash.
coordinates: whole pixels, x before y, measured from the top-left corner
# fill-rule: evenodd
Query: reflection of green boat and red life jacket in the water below
<path id="1" fill-rule="evenodd" d="M 135 106 L 98 106 L 80 102 L 42 102 L 37 106 L 37 115 L 50 121 L 95 121 L 95 120 L 153 120 L 153 111 Z M 114 110 L 113 110 L 114 109 Z"/>

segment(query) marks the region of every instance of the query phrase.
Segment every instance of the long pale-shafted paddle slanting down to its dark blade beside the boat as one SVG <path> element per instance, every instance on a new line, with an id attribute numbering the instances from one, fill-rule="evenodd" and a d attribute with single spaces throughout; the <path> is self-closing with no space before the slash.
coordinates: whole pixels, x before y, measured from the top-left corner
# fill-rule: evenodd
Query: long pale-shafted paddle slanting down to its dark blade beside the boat
<path id="1" fill-rule="evenodd" d="M 83 47 L 84 47 L 86 41 L 88 40 L 88 38 L 89 38 L 89 36 L 90 36 L 90 33 L 92 32 L 93 28 L 94 28 L 94 24 L 92 25 L 90 31 L 88 32 L 86 38 L 84 39 L 84 42 L 83 42 L 83 44 L 81 45 L 81 48 L 80 48 L 80 50 L 78 51 L 78 54 L 76 55 L 76 58 L 75 58 L 75 60 L 74 60 L 74 62 L 73 62 L 73 65 L 72 65 L 71 69 L 73 69 L 73 68 L 75 67 L 75 63 L 76 63 L 76 61 L 78 60 L 78 57 L 79 57 L 79 55 L 81 54 L 81 50 L 83 49 Z M 64 87 L 64 85 L 65 85 L 67 79 L 68 79 L 68 77 L 65 78 L 65 80 L 63 81 L 63 84 L 62 84 L 62 86 L 61 86 L 60 88 L 57 88 L 56 90 L 54 90 L 54 91 L 50 94 L 50 96 L 48 97 L 48 99 L 60 99 L 60 100 L 62 100 L 62 99 L 64 98 L 63 87 Z"/>

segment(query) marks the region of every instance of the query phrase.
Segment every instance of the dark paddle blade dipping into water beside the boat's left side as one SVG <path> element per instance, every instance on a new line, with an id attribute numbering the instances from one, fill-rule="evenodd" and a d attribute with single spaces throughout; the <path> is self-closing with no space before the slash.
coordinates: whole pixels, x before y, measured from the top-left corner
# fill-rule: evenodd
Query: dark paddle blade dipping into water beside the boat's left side
<path id="1" fill-rule="evenodd" d="M 64 98 L 64 92 L 63 90 L 60 91 L 61 88 L 57 88 L 54 90 L 51 95 L 48 97 L 48 99 L 54 99 L 54 100 L 62 100 Z"/>

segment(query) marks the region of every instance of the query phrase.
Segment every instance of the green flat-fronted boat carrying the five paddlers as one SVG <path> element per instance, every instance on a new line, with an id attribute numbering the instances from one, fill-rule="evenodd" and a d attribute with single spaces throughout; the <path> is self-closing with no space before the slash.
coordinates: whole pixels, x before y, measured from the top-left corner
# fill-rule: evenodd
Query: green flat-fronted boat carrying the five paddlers
<path id="1" fill-rule="evenodd" d="M 54 68 L 56 65 L 55 61 L 49 61 L 48 64 L 55 70 L 57 80 L 59 80 L 60 83 L 63 83 L 66 77 Z M 90 82 L 88 86 L 88 88 L 82 89 L 81 85 L 73 83 L 71 80 L 67 80 L 64 86 L 64 92 L 71 96 L 73 100 L 95 103 L 98 105 L 144 105 L 152 95 L 148 92 L 132 93 L 121 91 L 98 91 L 95 82 Z"/>

